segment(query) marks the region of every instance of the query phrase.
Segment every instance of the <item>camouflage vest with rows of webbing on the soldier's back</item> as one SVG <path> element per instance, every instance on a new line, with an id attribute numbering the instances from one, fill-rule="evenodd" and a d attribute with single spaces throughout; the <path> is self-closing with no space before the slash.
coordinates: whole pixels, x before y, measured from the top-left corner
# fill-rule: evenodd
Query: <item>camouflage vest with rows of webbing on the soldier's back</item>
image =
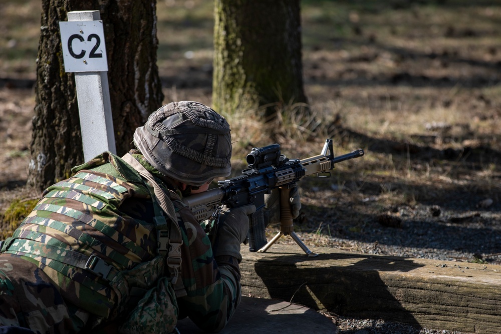
<path id="1" fill-rule="evenodd" d="M 162 304 L 172 308 L 175 319 L 175 292 L 149 290 L 157 289 L 160 279 L 175 279 L 179 272 L 173 269 L 169 275 L 163 257 L 171 243 L 168 229 L 176 209 L 172 206 L 168 223 L 151 186 L 109 152 L 75 171 L 73 177 L 44 192 L 33 212 L 2 245 L 2 252 L 37 263 L 60 286 L 65 299 L 98 316 L 96 324 L 138 301 L 144 311 L 148 298 L 151 301 L 157 292 L 162 298 L 171 297 L 170 305 Z M 119 211 L 132 194 L 152 198 L 154 224 Z M 153 231 L 157 237 L 151 235 Z M 161 256 L 155 256 L 157 250 Z M 182 291 L 178 287 L 177 294 Z M 137 307 L 134 312 L 139 312 Z"/>

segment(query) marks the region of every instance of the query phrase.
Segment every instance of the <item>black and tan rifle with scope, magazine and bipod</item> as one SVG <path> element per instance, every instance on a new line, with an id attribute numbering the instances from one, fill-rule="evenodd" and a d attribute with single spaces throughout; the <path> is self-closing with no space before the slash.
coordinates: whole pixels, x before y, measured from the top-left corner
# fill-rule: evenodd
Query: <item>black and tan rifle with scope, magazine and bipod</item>
<path id="1" fill-rule="evenodd" d="M 294 224 L 289 205 L 290 189 L 302 178 L 317 174 L 329 177 L 328 170 L 334 164 L 364 155 L 362 149 L 334 157 L 332 139 L 327 139 L 319 155 L 304 160 L 288 159 L 280 154 L 280 145 L 255 147 L 246 157 L 247 169 L 242 175 L 229 180 L 218 181 L 218 188 L 187 196 L 183 202 L 190 207 L 199 221 L 215 217 L 222 205 L 234 208 L 254 204 L 256 212 L 249 217 L 248 245 L 252 252 L 265 252 L 282 235 L 291 235 L 308 256 L 316 256 L 294 233 Z M 268 242 L 263 217 L 265 194 L 280 188 L 280 232 Z"/>

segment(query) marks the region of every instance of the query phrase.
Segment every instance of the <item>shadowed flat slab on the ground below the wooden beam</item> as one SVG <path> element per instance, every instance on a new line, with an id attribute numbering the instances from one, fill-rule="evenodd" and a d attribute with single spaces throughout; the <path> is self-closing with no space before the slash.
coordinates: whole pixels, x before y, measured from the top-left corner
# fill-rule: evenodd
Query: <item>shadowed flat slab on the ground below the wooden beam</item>
<path id="1" fill-rule="evenodd" d="M 181 334 L 203 333 L 190 319 L 178 321 Z M 336 325 L 306 306 L 278 299 L 242 297 L 236 313 L 220 334 L 288 333 L 337 334 Z"/>

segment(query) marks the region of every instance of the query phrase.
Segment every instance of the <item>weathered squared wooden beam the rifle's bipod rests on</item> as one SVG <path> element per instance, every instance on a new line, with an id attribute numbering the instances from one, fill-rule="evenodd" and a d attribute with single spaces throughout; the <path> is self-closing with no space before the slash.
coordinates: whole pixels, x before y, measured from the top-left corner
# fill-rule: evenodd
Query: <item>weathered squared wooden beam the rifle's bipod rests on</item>
<path id="1" fill-rule="evenodd" d="M 242 294 L 421 328 L 501 330 L 499 265 L 312 250 L 320 255 L 296 244 L 242 250 Z"/>

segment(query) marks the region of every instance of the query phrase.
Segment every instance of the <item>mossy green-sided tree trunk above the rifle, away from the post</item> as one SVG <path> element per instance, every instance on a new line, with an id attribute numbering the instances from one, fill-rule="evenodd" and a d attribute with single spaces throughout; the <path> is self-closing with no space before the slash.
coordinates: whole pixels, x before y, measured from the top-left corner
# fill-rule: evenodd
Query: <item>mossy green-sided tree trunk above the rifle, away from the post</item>
<path id="1" fill-rule="evenodd" d="M 214 17 L 216 111 L 306 102 L 299 0 L 215 0 Z"/>

